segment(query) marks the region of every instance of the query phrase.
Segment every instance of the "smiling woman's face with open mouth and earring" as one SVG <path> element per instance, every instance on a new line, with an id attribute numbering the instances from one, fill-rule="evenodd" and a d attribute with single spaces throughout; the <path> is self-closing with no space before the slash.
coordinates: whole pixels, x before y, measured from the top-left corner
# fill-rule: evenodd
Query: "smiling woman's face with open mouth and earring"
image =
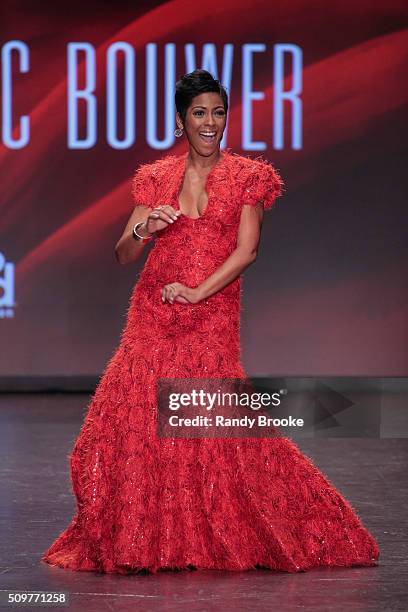
<path id="1" fill-rule="evenodd" d="M 190 145 L 205 157 L 220 148 L 226 123 L 227 114 L 222 98 L 215 92 L 206 92 L 193 99 L 187 109 L 184 126 L 177 113 L 177 126 L 184 128 Z"/>

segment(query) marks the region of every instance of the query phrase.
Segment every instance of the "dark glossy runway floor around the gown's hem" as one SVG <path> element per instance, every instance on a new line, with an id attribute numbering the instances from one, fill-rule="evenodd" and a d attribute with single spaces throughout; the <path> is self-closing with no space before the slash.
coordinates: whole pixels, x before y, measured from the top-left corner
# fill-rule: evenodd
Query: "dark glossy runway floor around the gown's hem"
<path id="1" fill-rule="evenodd" d="M 89 612 L 408 610 L 408 439 L 401 437 L 407 435 L 406 414 L 398 398 L 389 399 L 382 428 L 387 437 L 297 441 L 376 537 L 379 567 L 319 568 L 301 574 L 200 570 L 117 576 L 63 570 L 40 560 L 75 513 L 67 455 L 88 397 L 0 396 L 3 602 L 8 591 L 21 590 L 66 592 L 68 609 Z M 0 609 L 12 608 L 3 603 Z"/>

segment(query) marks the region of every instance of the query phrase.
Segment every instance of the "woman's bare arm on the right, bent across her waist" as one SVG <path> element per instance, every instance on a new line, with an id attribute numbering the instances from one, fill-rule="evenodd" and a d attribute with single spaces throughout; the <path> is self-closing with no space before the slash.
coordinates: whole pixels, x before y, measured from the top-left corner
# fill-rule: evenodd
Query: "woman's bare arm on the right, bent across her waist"
<path id="1" fill-rule="evenodd" d="M 256 260 L 263 214 L 262 202 L 258 202 L 256 206 L 244 205 L 238 228 L 237 246 L 231 255 L 198 287 L 190 288 L 180 283 L 171 283 L 174 288 L 172 290 L 166 285 L 162 290 L 163 301 L 197 303 L 232 283 Z M 177 296 L 181 296 L 181 299 Z"/>

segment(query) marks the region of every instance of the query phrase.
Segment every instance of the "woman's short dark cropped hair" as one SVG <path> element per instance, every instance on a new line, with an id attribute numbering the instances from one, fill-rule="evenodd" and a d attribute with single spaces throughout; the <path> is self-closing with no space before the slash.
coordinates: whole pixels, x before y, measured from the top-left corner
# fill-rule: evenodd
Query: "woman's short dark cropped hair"
<path id="1" fill-rule="evenodd" d="M 212 92 L 220 94 L 224 110 L 228 112 L 228 94 L 225 87 L 214 79 L 212 74 L 207 70 L 197 68 L 193 72 L 184 74 L 176 83 L 176 109 L 179 113 L 182 122 L 186 120 L 187 109 L 191 105 L 193 99 L 202 93 Z"/>

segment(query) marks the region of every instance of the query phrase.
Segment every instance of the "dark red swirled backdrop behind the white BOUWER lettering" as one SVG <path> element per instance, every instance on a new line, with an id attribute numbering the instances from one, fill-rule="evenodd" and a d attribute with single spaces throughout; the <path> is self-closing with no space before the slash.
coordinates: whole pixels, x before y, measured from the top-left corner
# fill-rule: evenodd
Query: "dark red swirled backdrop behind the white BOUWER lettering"
<path id="1" fill-rule="evenodd" d="M 23 41 L 30 54 L 26 73 L 13 55 L 13 127 L 17 137 L 21 115 L 28 115 L 30 141 L 13 150 L 3 133 L 0 150 L 0 252 L 15 265 L 16 302 L 0 319 L 0 374 L 94 375 L 113 353 L 143 265 L 121 267 L 114 256 L 133 208 L 130 178 L 140 163 L 186 150 L 184 139 L 155 150 L 145 137 L 146 45 L 157 44 L 160 135 L 164 48 L 171 42 L 177 78 L 187 71 L 186 44 L 194 45 L 194 67 L 205 68 L 203 45 L 216 46 L 217 78 L 224 45 L 234 45 L 227 146 L 262 153 L 286 185 L 265 215 L 258 259 L 244 277 L 247 371 L 406 375 L 406 17 L 397 0 L 9 3 L 1 46 Z M 67 144 L 67 45 L 78 41 L 96 50 L 98 137 L 85 150 Z M 105 61 L 114 41 L 136 53 L 137 138 L 125 150 L 106 140 Z M 265 97 L 253 103 L 251 126 L 254 140 L 267 143 L 264 151 L 242 148 L 246 43 L 265 44 L 252 73 L 253 89 Z M 284 146 L 273 146 L 279 43 L 302 51 L 299 150 L 290 105 Z M 292 69 L 289 62 L 287 89 Z M 121 66 L 118 74 L 120 89 Z M 119 97 L 119 114 L 122 107 Z M 79 119 L 83 130 L 84 108 Z"/>

